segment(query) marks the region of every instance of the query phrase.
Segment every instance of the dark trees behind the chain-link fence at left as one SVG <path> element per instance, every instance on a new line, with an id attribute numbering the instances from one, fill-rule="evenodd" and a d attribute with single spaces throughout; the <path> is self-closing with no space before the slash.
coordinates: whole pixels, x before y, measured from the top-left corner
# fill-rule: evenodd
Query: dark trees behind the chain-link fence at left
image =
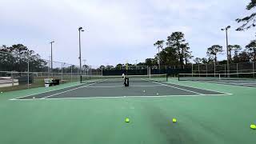
<path id="1" fill-rule="evenodd" d="M 34 50 L 29 50 L 28 47 L 22 44 L 13 46 L 3 45 L 0 47 L 0 71 L 26 72 L 28 70 L 28 62 L 32 72 L 48 72 L 50 70 L 49 61 L 42 59 Z M 65 66 L 65 63 L 61 65 L 66 73 L 78 73 L 78 66 Z M 60 73 L 62 66 L 54 66 L 50 72 Z"/>

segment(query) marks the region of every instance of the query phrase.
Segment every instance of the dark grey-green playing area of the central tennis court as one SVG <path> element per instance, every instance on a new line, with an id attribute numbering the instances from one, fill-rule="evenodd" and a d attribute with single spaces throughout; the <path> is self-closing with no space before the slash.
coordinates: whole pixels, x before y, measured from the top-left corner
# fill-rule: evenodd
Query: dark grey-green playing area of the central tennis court
<path id="1" fill-rule="evenodd" d="M 58 99 L 58 98 L 123 98 L 123 97 L 167 97 L 167 96 L 200 96 L 226 94 L 215 90 L 203 90 L 190 86 L 181 86 L 164 81 L 154 82 L 142 78 L 131 80 L 130 86 L 112 79 L 98 77 L 98 82 L 54 90 L 42 94 L 31 94 L 13 100 Z M 102 80 L 104 78 L 104 80 Z M 108 77 L 107 77 L 108 78 Z"/>

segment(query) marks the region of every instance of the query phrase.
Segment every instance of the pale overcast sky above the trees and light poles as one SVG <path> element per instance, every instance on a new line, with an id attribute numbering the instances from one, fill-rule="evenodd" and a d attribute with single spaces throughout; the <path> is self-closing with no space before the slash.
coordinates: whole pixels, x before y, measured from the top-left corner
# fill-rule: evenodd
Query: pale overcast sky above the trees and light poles
<path id="1" fill-rule="evenodd" d="M 54 61 L 78 64 L 78 27 L 82 59 L 93 66 L 144 62 L 154 58 L 157 40 L 182 31 L 194 57 L 206 48 L 226 46 L 221 28 L 230 25 L 230 44 L 246 46 L 255 29 L 237 32 L 234 20 L 250 0 L 0 0 L 0 45 L 22 43 Z M 220 56 L 224 58 L 225 54 Z"/>

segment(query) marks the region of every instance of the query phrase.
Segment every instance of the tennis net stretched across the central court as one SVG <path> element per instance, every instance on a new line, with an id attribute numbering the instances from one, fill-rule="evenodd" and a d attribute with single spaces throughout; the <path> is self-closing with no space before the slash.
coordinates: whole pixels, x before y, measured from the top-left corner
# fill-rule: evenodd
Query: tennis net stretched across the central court
<path id="1" fill-rule="evenodd" d="M 129 75 L 130 82 L 166 82 L 167 74 L 150 74 L 150 75 Z M 82 83 L 92 82 L 124 82 L 121 75 L 114 76 L 97 76 L 97 75 L 82 75 Z"/>

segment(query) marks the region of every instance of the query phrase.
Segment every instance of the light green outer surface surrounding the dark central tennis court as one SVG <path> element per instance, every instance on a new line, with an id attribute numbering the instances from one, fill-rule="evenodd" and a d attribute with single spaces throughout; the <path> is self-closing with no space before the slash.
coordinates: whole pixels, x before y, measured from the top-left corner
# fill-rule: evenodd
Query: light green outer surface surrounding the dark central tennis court
<path id="1" fill-rule="evenodd" d="M 250 129 L 256 123 L 256 87 L 175 79 L 168 83 L 222 94 L 171 94 L 169 86 L 162 90 L 170 96 L 159 97 L 37 97 L 49 90 L 83 86 L 79 83 L 6 92 L 0 94 L 0 143 L 256 143 L 256 130 Z M 154 89 L 158 86 L 148 90 Z M 86 89 L 79 90 L 86 95 Z M 35 98 L 13 99 L 30 94 Z M 178 122 L 172 123 L 172 118 Z"/>

